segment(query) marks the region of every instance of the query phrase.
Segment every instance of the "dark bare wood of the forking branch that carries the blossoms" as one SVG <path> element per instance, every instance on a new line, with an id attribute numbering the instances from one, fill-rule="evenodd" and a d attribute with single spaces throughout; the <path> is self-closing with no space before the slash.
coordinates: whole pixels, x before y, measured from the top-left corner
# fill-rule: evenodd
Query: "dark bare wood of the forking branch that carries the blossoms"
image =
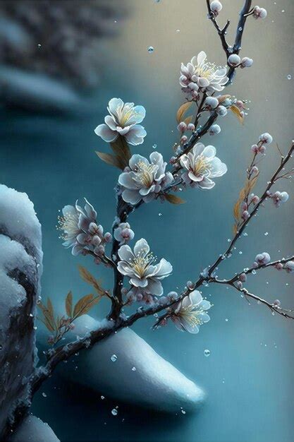
<path id="1" fill-rule="evenodd" d="M 228 29 L 229 21 L 226 23 L 224 28 L 222 28 L 222 29 L 219 28 L 219 25 L 216 23 L 215 18 L 212 17 L 212 14 L 211 14 L 211 11 L 209 8 L 209 18 L 212 20 L 214 27 L 216 28 L 216 30 L 219 33 L 219 36 L 221 38 L 221 43 L 223 45 L 223 49 L 226 52 L 227 58 L 231 53 L 238 54 L 238 52 L 240 52 L 240 44 L 241 44 L 241 40 L 242 40 L 242 36 L 243 36 L 243 31 L 245 28 L 245 21 L 246 21 L 248 14 L 250 14 L 251 3 L 252 3 L 251 0 L 245 0 L 245 4 L 244 4 L 243 9 L 240 13 L 240 19 L 239 19 L 239 23 L 238 23 L 236 36 L 235 36 L 235 44 L 233 46 L 233 52 L 229 52 L 229 47 L 228 47 L 228 44 L 226 42 L 226 37 L 225 37 L 226 31 Z M 207 1 L 207 6 L 209 6 L 209 1 Z M 233 68 L 233 67 L 231 67 L 229 69 L 229 73 L 228 73 L 229 82 L 231 82 L 231 80 L 233 78 L 234 71 L 235 71 L 235 68 Z M 201 108 L 198 109 L 198 113 L 200 113 L 200 112 L 201 112 Z M 202 138 L 202 136 L 204 136 L 204 134 L 209 131 L 209 128 L 212 126 L 212 124 L 214 124 L 214 121 L 216 121 L 217 117 L 218 116 L 217 116 L 216 112 L 212 112 L 209 119 L 207 119 L 207 122 L 204 124 L 204 126 L 201 128 L 201 130 L 195 131 L 195 133 L 193 133 L 192 136 L 190 137 L 190 140 L 188 141 L 188 143 L 185 143 L 185 145 L 183 145 L 183 152 L 180 155 L 183 155 L 183 153 L 187 153 L 192 148 L 192 146 L 195 144 L 195 142 L 198 141 L 200 138 Z M 196 116 L 196 119 L 198 122 L 199 117 Z M 142 308 L 137 309 L 137 311 L 135 313 L 126 317 L 124 315 L 124 313 L 122 312 L 123 297 L 121 294 L 121 288 L 123 285 L 123 275 L 118 273 L 118 269 L 116 267 L 116 260 L 118 259 L 119 244 L 118 244 L 118 241 L 116 241 L 116 239 L 114 239 L 113 249 L 111 251 L 111 258 L 109 258 L 109 262 L 108 262 L 108 264 L 111 265 L 114 269 L 114 293 L 113 293 L 113 297 L 111 299 L 112 306 L 111 306 L 111 313 L 109 313 L 109 317 L 108 317 L 109 322 L 106 325 L 104 325 L 102 328 L 99 328 L 98 330 L 93 330 L 91 333 L 88 333 L 84 338 L 75 340 L 74 342 L 70 342 L 67 345 L 62 345 L 60 347 L 57 347 L 55 350 L 52 350 L 51 353 L 48 354 L 47 364 L 45 366 L 41 366 L 38 369 L 36 369 L 35 374 L 33 374 L 32 378 L 30 380 L 30 383 L 32 386 L 32 395 L 34 395 L 35 392 L 42 385 L 42 383 L 47 378 L 49 378 L 49 376 L 51 376 L 54 369 L 56 368 L 56 366 L 60 362 L 72 357 L 77 352 L 80 352 L 80 350 L 92 347 L 92 345 L 94 345 L 95 343 L 97 343 L 101 340 L 104 340 L 105 338 L 109 337 L 110 335 L 112 335 L 116 331 L 120 330 L 121 328 L 129 327 L 130 325 L 133 325 L 133 323 L 138 321 L 140 318 L 153 316 L 156 313 L 160 313 L 161 311 L 166 310 L 166 313 L 163 316 L 161 316 L 157 321 L 157 324 L 160 324 L 161 321 L 163 320 L 163 318 L 166 318 L 170 315 L 169 308 L 173 304 L 176 304 L 177 302 L 181 301 L 184 297 L 188 296 L 192 292 L 192 290 L 201 287 L 204 282 L 214 282 L 216 284 L 231 285 L 231 287 L 234 287 L 239 292 L 242 292 L 245 295 L 245 297 L 249 297 L 249 298 L 255 299 L 257 301 L 260 301 L 262 304 L 268 306 L 269 309 L 271 309 L 271 311 L 276 311 L 278 314 L 281 314 L 286 318 L 292 318 L 292 316 L 290 316 L 288 311 L 285 311 L 283 309 L 278 309 L 278 306 L 275 306 L 274 304 L 270 304 L 265 299 L 257 297 L 255 294 L 248 292 L 247 289 L 245 289 L 243 287 L 238 287 L 238 285 L 236 284 L 237 280 L 235 279 L 235 277 L 232 277 L 231 280 L 218 280 L 214 276 L 214 270 L 216 270 L 216 268 L 218 268 L 218 266 L 220 265 L 220 263 L 223 261 L 224 258 L 227 258 L 230 255 L 231 251 L 233 250 L 233 246 L 234 246 L 235 242 L 243 234 L 243 231 L 244 231 L 245 227 L 247 226 L 248 222 L 250 222 L 250 220 L 252 219 L 252 216 L 255 215 L 255 213 L 259 209 L 260 205 L 262 205 L 262 203 L 264 203 L 264 201 L 267 199 L 269 189 L 271 189 L 271 186 L 274 185 L 276 179 L 278 179 L 279 173 L 281 172 L 283 167 L 286 165 L 288 160 L 290 160 L 293 150 L 294 150 L 294 145 L 291 145 L 290 150 L 288 151 L 288 154 L 286 155 L 286 157 L 282 157 L 281 165 L 278 167 L 277 171 L 274 173 L 273 177 L 271 178 L 271 181 L 269 181 L 269 184 L 267 185 L 267 189 L 264 191 L 262 197 L 259 200 L 259 203 L 257 205 L 255 205 L 255 208 L 252 210 L 250 218 L 248 218 L 246 221 L 243 222 L 242 225 L 240 225 L 238 232 L 235 234 L 235 237 L 231 241 L 231 244 L 228 247 L 228 249 L 226 250 L 226 252 L 223 253 L 221 256 L 219 256 L 219 258 L 216 259 L 216 261 L 212 264 L 212 266 L 209 267 L 209 270 L 207 271 L 207 273 L 202 273 L 202 275 L 200 275 L 200 277 L 195 282 L 193 287 L 185 287 L 185 290 L 178 296 L 177 299 L 166 301 L 166 304 L 154 304 L 153 306 L 150 306 L 149 308 L 146 308 L 146 309 L 142 309 Z M 179 159 L 180 155 L 178 155 L 177 160 Z M 174 177 L 177 177 L 177 173 L 178 173 L 179 169 L 180 168 L 176 167 L 173 170 Z M 123 199 L 121 198 L 121 196 L 118 196 L 118 203 L 117 203 L 117 210 L 116 210 L 118 222 L 114 225 L 114 228 L 117 227 L 119 222 L 125 222 L 128 219 L 128 215 L 130 215 L 130 213 L 132 213 L 133 210 L 140 207 L 140 205 L 142 205 L 142 202 L 140 202 L 137 205 L 132 207 L 132 206 L 128 205 L 127 203 L 125 203 L 123 201 Z M 290 261 L 290 258 L 288 259 L 288 261 Z M 286 261 L 286 260 L 274 261 L 274 262 L 269 263 L 267 265 L 260 265 L 259 268 L 257 268 L 256 270 L 269 267 L 269 266 L 274 265 L 275 263 L 278 263 L 278 262 L 281 262 L 281 263 L 285 262 L 286 263 L 288 261 Z M 250 274 L 250 273 L 252 273 L 252 271 L 253 271 L 253 269 L 249 269 L 249 270 L 247 270 L 247 273 Z M 240 274 L 238 274 L 238 275 L 240 275 Z M 238 275 L 236 276 L 237 278 L 238 278 Z"/>

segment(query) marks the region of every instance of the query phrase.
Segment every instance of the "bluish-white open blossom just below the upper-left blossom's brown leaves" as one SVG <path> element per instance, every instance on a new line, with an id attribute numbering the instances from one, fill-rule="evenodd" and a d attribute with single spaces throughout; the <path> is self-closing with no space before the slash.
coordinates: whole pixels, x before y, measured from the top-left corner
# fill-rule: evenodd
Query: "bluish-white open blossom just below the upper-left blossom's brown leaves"
<path id="1" fill-rule="evenodd" d="M 123 201 L 126 203 L 135 205 L 141 200 L 148 203 L 173 181 L 171 172 L 166 172 L 167 163 L 161 153 L 152 152 L 149 159 L 133 155 L 130 167 L 118 177 L 118 183 L 123 189 Z"/>

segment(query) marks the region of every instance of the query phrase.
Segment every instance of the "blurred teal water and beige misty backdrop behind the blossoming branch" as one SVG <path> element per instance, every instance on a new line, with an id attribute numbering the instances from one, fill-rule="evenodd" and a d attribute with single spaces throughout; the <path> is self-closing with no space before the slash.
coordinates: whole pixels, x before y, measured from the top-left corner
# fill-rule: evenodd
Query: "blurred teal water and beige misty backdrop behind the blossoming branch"
<path id="1" fill-rule="evenodd" d="M 109 99 L 121 97 L 143 104 L 147 110 L 147 137 L 134 153 L 149 155 L 156 143 L 169 158 L 177 136 L 176 109 L 183 101 L 178 85 L 180 62 L 204 49 L 210 60 L 224 63 L 204 1 L 128 3 L 132 15 L 121 35 L 106 42 L 102 85 L 87 99 L 86 110 L 81 107 L 75 114 L 60 115 L 1 109 L 0 180 L 25 191 L 35 203 L 43 232 L 43 297 L 50 296 L 59 306 L 69 289 L 76 297 L 87 291 L 78 276 L 78 263 L 102 275 L 104 285 L 111 287 L 110 271 L 95 268 L 90 259 L 73 258 L 62 248 L 55 227 L 63 205 L 83 196 L 97 208 L 105 229 L 111 227 L 118 172 L 94 154 L 94 150 L 107 150 L 94 128 L 102 122 Z M 222 3 L 220 20 L 224 22 L 227 16 L 236 20 L 243 2 Z M 173 275 L 164 284 L 166 292 L 196 278 L 226 249 L 232 234 L 233 204 L 243 186 L 250 146 L 259 134 L 269 131 L 284 152 L 293 138 L 294 80 L 287 76 L 294 78 L 294 6 L 290 0 L 277 3 L 262 2 L 269 13 L 266 20 L 248 20 L 243 55 L 255 63 L 238 72 L 227 90 L 250 100 L 245 125 L 228 115 L 220 119 L 219 136 L 204 138 L 204 143 L 216 146 L 218 156 L 228 165 L 226 176 L 217 179 L 212 191 L 185 191 L 181 195 L 185 205 L 155 202 L 142 206 L 130 218 L 135 238 L 145 237 L 159 258 L 173 263 Z M 154 46 L 152 54 L 147 52 L 149 45 Z M 262 163 L 257 193 L 278 162 L 275 143 Z M 288 191 L 290 200 L 279 210 L 267 203 L 259 211 L 247 229 L 248 236 L 240 239 L 220 275 L 252 265 L 262 251 L 273 259 L 293 254 L 293 182 L 281 182 L 276 189 Z M 293 275 L 267 270 L 252 276 L 247 287 L 269 300 L 281 299 L 284 306 L 294 305 Z M 164 416 L 120 404 L 114 417 L 115 400 L 102 401 L 98 393 L 65 385 L 59 376 L 44 385 L 32 412 L 48 422 L 62 441 L 293 441 L 293 322 L 271 316 L 255 302 L 248 305 L 226 287 L 204 287 L 203 294 L 214 308 L 212 320 L 199 335 L 179 333 L 171 324 L 154 333 L 152 318 L 134 326 L 159 354 L 207 390 L 207 402 L 199 413 Z M 104 304 L 94 314 L 101 316 L 106 311 Z M 204 349 L 210 350 L 209 357 L 204 357 Z M 59 370 L 76 364 L 78 359 Z"/>

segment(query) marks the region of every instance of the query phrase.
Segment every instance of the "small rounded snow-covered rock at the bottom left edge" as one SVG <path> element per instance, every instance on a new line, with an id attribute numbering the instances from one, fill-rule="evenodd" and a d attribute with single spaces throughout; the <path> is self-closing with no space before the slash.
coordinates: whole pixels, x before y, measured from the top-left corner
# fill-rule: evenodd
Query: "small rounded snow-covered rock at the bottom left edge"
<path id="1" fill-rule="evenodd" d="M 48 424 L 35 416 L 27 416 L 10 438 L 11 442 L 60 442 Z"/>

